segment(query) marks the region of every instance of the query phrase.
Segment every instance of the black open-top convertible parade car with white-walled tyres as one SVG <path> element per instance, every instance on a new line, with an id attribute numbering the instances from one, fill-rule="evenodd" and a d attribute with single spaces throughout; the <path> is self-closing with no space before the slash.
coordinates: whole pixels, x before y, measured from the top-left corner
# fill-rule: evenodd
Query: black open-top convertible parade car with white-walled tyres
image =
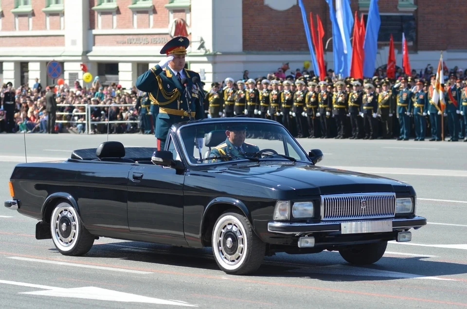
<path id="1" fill-rule="evenodd" d="M 411 185 L 322 159 L 272 120 L 187 121 L 170 127 L 164 150 L 109 141 L 66 161 L 18 164 L 4 204 L 39 220 L 36 239 L 52 238 L 64 255 L 86 254 L 98 237 L 212 247 L 230 274 L 281 252 L 372 264 L 388 241 L 426 225 Z"/>

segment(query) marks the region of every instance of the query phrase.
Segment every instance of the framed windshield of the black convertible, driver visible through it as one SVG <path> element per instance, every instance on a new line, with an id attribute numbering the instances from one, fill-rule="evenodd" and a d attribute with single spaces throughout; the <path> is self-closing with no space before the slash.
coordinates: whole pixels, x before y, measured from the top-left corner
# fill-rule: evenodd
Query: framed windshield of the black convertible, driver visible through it
<path id="1" fill-rule="evenodd" d="M 285 127 L 272 122 L 203 121 L 180 127 L 179 137 L 192 165 L 237 160 L 309 162 Z"/>

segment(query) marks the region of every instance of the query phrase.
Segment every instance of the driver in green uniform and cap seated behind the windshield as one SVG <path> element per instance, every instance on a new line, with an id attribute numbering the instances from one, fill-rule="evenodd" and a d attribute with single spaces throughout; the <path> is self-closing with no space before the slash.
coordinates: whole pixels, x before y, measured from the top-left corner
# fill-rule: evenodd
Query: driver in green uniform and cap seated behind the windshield
<path id="1" fill-rule="evenodd" d="M 245 143 L 247 127 L 241 125 L 233 125 L 225 131 L 227 136 L 224 143 L 217 145 L 209 153 L 210 157 L 225 157 L 220 160 L 229 161 L 232 157 L 243 157 L 243 153 L 259 152 L 259 147 L 249 143 Z M 217 162 L 217 159 L 212 159 L 211 162 Z"/>

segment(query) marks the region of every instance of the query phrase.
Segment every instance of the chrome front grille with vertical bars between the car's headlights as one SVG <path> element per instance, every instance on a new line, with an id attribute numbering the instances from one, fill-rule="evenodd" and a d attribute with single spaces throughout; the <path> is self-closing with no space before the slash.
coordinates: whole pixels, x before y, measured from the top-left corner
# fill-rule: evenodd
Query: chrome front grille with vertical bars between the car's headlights
<path id="1" fill-rule="evenodd" d="M 395 193 L 323 195 L 321 219 L 391 218 L 395 216 Z"/>

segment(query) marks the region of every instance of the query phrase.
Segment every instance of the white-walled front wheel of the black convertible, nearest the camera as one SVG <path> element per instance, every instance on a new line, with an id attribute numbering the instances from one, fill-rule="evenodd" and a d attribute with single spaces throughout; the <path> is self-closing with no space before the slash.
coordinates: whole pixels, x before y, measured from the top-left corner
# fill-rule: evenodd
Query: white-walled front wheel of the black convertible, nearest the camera
<path id="1" fill-rule="evenodd" d="M 266 244 L 256 236 L 248 218 L 233 212 L 217 219 L 212 243 L 217 265 L 229 274 L 256 271 L 266 252 Z"/>

